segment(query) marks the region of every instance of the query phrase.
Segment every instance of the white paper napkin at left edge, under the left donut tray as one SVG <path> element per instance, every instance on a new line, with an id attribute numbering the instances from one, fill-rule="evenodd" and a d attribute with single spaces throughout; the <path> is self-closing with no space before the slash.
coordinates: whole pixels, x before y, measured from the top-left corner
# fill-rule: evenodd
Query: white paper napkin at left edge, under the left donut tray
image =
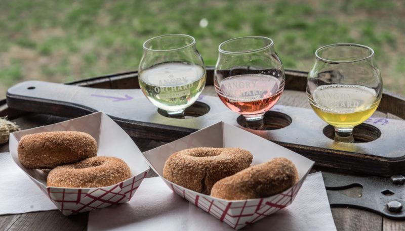
<path id="1" fill-rule="evenodd" d="M 9 153 L 0 153 L 0 198 L 0 215 L 56 209 Z"/>

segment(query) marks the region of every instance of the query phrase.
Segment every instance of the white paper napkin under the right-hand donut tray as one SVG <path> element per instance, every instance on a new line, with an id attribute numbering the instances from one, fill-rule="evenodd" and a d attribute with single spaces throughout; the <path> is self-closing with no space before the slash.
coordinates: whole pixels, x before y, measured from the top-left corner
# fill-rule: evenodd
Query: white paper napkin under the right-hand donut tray
<path id="1" fill-rule="evenodd" d="M 88 230 L 234 230 L 173 193 L 159 177 L 145 179 L 129 203 L 90 212 Z M 334 231 L 322 174 L 308 175 L 292 205 L 241 230 Z"/>

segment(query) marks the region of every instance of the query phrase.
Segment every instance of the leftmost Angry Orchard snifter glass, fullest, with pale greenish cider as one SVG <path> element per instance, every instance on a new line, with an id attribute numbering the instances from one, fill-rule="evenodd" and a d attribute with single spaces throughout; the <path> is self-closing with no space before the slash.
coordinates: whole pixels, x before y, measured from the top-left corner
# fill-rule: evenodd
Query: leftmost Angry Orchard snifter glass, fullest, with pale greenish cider
<path id="1" fill-rule="evenodd" d="M 206 69 L 195 39 L 185 34 L 145 41 L 138 73 L 146 98 L 175 118 L 184 117 L 184 110 L 198 99 L 206 83 Z"/>

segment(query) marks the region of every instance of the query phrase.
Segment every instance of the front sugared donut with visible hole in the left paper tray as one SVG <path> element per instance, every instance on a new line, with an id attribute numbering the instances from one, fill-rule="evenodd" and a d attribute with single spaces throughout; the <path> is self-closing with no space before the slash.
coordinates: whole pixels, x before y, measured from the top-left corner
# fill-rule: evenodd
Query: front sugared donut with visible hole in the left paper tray
<path id="1" fill-rule="evenodd" d="M 100 188 L 131 177 L 127 163 L 115 157 L 97 156 L 52 169 L 47 186 L 63 188 Z"/>

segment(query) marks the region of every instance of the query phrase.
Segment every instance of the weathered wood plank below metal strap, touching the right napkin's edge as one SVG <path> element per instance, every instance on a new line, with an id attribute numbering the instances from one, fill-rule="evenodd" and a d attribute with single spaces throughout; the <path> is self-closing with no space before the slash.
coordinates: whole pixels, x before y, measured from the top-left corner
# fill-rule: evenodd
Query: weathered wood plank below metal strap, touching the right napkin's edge
<path id="1" fill-rule="evenodd" d="M 381 231 L 382 217 L 368 211 L 332 208 L 332 215 L 338 231 Z"/>

